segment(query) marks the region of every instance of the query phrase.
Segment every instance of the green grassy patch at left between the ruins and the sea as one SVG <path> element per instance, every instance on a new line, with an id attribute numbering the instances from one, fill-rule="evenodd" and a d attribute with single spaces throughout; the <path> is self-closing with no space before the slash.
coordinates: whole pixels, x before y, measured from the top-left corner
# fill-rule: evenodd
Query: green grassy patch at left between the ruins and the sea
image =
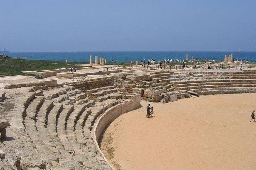
<path id="1" fill-rule="evenodd" d="M 68 62 L 68 64 L 81 64 L 81 62 Z M 67 65 L 60 61 L 46 60 L 24 60 L 24 59 L 9 59 L 7 61 L 0 60 L 0 75 L 22 75 L 22 71 L 40 71 L 70 67 L 88 67 Z M 39 78 L 39 77 L 38 77 Z"/>

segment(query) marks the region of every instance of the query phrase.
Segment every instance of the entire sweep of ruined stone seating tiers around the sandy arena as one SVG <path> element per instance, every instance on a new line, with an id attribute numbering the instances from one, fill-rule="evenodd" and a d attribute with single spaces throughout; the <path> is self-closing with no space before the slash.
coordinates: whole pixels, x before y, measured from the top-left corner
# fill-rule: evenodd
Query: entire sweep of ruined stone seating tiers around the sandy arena
<path id="1" fill-rule="evenodd" d="M 256 92 L 255 70 L 123 68 L 103 73 L 2 86 L 0 169 L 115 169 L 98 142 L 113 120 L 139 109 L 141 100 L 172 103 Z"/>

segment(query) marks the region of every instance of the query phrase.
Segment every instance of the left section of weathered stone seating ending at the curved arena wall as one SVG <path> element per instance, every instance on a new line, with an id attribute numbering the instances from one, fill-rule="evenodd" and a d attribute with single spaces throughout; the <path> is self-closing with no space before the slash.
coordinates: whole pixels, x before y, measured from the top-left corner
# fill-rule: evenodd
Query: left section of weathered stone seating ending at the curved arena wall
<path id="1" fill-rule="evenodd" d="M 111 109 L 122 108 L 114 112 L 122 114 L 140 106 L 140 95 L 123 93 L 113 84 L 114 77 L 107 76 L 50 89 L 2 90 L 0 169 L 110 170 L 94 138 L 96 123 Z M 101 124 L 109 121 L 101 119 Z"/>

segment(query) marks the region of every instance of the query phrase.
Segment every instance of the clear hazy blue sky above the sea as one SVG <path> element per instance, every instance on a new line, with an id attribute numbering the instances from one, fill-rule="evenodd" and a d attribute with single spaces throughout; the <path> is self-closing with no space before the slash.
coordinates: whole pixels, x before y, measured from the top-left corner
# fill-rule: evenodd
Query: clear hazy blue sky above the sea
<path id="1" fill-rule="evenodd" d="M 0 0 L 0 45 L 32 51 L 256 51 L 256 0 Z"/>

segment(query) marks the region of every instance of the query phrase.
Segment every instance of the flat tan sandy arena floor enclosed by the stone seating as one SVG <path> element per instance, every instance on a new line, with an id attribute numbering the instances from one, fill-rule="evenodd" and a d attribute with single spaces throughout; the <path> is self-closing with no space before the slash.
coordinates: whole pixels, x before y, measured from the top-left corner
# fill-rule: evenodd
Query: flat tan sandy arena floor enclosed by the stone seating
<path id="1" fill-rule="evenodd" d="M 208 95 L 151 103 L 114 120 L 101 149 L 117 170 L 256 169 L 256 94 Z"/>

